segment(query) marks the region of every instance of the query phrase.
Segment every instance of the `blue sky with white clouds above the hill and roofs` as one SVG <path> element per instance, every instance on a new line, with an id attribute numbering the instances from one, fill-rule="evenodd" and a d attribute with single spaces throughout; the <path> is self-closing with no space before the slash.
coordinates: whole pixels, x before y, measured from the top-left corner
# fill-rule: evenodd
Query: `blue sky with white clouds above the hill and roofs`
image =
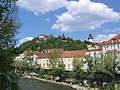
<path id="1" fill-rule="evenodd" d="M 19 0 L 18 45 L 41 34 L 95 42 L 120 33 L 120 0 Z"/>

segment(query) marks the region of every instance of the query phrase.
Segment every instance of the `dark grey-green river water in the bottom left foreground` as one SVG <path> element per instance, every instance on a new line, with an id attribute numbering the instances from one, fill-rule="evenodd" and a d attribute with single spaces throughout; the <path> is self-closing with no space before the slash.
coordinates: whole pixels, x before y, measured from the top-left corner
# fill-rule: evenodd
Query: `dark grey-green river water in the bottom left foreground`
<path id="1" fill-rule="evenodd" d="M 19 83 L 20 90 L 74 90 L 71 87 L 28 78 L 20 79 Z"/>

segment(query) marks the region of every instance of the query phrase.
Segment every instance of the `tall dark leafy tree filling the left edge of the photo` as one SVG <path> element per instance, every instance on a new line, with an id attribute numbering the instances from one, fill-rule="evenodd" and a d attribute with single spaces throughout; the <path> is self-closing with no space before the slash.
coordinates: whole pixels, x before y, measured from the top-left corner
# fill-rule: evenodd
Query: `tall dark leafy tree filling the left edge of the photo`
<path id="1" fill-rule="evenodd" d="M 0 90 L 17 90 L 18 77 L 13 67 L 15 35 L 18 33 L 16 0 L 0 0 Z"/>

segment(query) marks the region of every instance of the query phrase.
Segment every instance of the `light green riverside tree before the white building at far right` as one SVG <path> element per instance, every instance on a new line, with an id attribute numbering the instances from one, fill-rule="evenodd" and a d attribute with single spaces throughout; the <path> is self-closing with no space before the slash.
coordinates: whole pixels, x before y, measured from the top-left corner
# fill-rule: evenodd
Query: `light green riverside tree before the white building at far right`
<path id="1" fill-rule="evenodd" d="M 118 59 L 117 53 L 108 53 L 103 58 L 104 69 L 102 72 L 105 75 L 107 75 L 110 90 L 114 90 L 115 68 L 119 63 L 117 59 Z"/>

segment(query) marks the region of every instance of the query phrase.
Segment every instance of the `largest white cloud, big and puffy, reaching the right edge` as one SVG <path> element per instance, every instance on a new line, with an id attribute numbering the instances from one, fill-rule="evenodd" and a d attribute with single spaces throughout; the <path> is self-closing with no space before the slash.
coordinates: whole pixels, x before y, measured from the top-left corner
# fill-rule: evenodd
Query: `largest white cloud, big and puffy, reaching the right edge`
<path id="1" fill-rule="evenodd" d="M 106 22 L 120 20 L 120 13 L 103 3 L 90 0 L 70 1 L 66 3 L 66 8 L 68 11 L 57 16 L 52 29 L 62 32 L 94 30 Z"/>

